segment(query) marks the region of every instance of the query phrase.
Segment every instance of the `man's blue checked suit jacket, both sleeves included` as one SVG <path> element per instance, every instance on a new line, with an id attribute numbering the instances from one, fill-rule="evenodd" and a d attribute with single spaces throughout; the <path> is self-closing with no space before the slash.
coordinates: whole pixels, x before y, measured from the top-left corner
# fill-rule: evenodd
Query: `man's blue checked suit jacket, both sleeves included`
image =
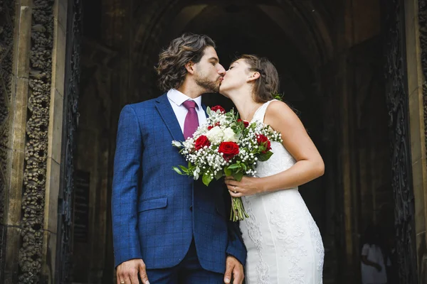
<path id="1" fill-rule="evenodd" d="M 172 140 L 184 136 L 166 94 L 122 109 L 112 182 L 115 266 L 142 258 L 148 269 L 171 268 L 193 237 L 204 269 L 224 273 L 227 254 L 244 265 L 246 249 L 228 221 L 223 181 L 206 187 L 175 173 L 172 166 L 187 163 Z"/>

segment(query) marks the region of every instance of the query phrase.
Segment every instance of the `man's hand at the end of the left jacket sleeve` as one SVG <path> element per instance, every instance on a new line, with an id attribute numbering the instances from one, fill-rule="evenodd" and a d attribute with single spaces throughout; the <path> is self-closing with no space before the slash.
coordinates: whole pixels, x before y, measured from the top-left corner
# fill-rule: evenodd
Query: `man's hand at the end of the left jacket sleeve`
<path id="1" fill-rule="evenodd" d="M 145 263 L 142 259 L 131 259 L 117 266 L 117 284 L 139 284 L 139 277 L 143 284 L 149 284 Z"/>

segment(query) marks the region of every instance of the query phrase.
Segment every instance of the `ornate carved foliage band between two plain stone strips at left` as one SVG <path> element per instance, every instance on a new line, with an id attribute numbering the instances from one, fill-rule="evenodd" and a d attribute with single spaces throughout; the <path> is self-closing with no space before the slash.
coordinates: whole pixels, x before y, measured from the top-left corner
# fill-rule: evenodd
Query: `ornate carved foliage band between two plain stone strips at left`
<path id="1" fill-rule="evenodd" d="M 39 283 L 43 249 L 53 0 L 33 1 L 19 283 Z"/>

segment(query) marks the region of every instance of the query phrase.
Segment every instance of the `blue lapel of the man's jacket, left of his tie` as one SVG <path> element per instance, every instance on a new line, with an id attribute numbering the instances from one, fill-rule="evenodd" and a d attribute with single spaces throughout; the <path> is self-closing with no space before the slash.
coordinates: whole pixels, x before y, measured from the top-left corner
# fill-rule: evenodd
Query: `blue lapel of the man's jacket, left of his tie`
<path id="1" fill-rule="evenodd" d="M 174 109 L 172 109 L 169 99 L 167 99 L 167 94 L 163 94 L 158 97 L 155 106 L 157 111 L 159 111 L 160 116 L 162 116 L 162 120 L 171 133 L 172 138 L 176 141 L 184 141 L 184 134 L 181 131 L 178 119 L 176 119 Z"/>

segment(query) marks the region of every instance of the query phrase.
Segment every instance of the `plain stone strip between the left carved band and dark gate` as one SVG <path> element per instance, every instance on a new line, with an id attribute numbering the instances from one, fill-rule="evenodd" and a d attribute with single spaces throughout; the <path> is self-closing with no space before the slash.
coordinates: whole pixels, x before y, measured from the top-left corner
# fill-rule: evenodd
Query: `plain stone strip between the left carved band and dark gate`
<path id="1" fill-rule="evenodd" d="M 65 114 L 65 46 L 67 33 L 68 0 L 56 0 L 53 4 L 53 49 L 51 96 L 48 113 L 48 148 L 46 157 L 46 193 L 43 209 L 43 248 L 41 251 L 42 275 L 48 283 L 54 283 L 56 247 L 58 241 L 58 193 L 60 191 L 60 163 Z"/>

